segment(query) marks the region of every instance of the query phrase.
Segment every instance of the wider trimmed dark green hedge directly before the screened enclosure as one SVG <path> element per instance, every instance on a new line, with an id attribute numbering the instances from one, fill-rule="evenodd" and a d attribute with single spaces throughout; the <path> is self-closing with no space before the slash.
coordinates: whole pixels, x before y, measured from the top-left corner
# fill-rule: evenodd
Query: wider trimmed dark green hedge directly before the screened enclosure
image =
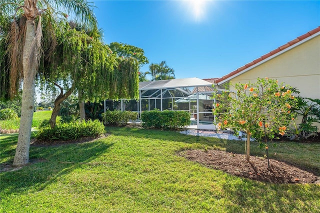
<path id="1" fill-rule="evenodd" d="M 190 113 L 186 111 L 143 111 L 141 113 L 142 126 L 147 128 L 185 128 L 190 124 Z"/>

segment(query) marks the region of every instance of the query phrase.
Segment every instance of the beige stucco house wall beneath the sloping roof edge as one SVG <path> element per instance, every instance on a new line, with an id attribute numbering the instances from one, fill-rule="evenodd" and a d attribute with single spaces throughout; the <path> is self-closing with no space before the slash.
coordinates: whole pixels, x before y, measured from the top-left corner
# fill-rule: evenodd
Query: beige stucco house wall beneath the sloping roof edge
<path id="1" fill-rule="evenodd" d="M 320 35 L 231 79 L 231 84 L 274 78 L 298 88 L 300 96 L 320 98 Z"/>

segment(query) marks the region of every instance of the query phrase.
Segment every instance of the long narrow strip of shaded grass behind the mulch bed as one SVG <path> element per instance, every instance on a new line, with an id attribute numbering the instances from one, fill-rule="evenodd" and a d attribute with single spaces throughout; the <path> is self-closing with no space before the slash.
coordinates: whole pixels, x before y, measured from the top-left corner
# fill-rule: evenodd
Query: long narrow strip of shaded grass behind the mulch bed
<path id="1" fill-rule="evenodd" d="M 204 137 L 204 136 L 193 136 L 179 133 L 179 131 L 170 131 L 170 130 L 161 130 L 161 129 L 144 129 L 144 128 L 132 128 L 132 127 L 106 127 L 106 131 L 112 133 L 113 135 L 130 135 L 133 137 L 139 138 L 149 138 L 149 139 L 160 139 L 160 140 L 172 140 L 183 143 L 196 143 L 198 144 L 196 148 L 214 148 L 225 150 L 227 152 L 243 154 L 245 153 L 245 140 L 227 140 L 215 137 Z M 310 160 L 301 160 L 301 158 L 297 157 L 297 153 L 291 153 L 290 151 L 286 151 L 287 147 L 290 146 L 294 148 L 296 144 L 292 143 L 279 143 L 277 142 L 277 146 L 273 147 L 269 144 L 269 157 L 283 161 L 289 164 L 292 164 L 296 167 L 299 167 L 303 170 L 310 171 L 315 175 L 320 175 L 320 168 L 316 163 L 310 163 Z M 301 144 L 300 144 L 301 145 Z M 312 144 L 304 144 L 304 148 L 310 146 Z M 304 149 L 301 148 L 300 154 L 303 155 Z M 320 150 L 319 150 L 320 151 Z M 252 156 L 265 156 L 265 149 L 259 147 L 259 142 L 251 141 L 250 142 L 250 155 Z M 291 154 L 293 157 L 287 159 L 287 155 Z M 295 156 L 295 158 L 294 158 Z M 245 157 L 243 156 L 245 160 Z M 312 160 L 317 161 L 318 158 L 312 158 Z M 311 161 L 312 161 L 311 160 Z M 267 166 L 267 160 L 266 160 Z"/>

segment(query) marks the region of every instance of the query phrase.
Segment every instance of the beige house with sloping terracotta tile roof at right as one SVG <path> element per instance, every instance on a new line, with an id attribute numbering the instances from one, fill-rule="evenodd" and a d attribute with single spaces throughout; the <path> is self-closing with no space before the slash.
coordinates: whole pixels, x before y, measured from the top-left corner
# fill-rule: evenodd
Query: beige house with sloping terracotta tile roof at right
<path id="1" fill-rule="evenodd" d="M 215 79 L 226 82 L 254 82 L 273 78 L 298 88 L 300 96 L 320 98 L 320 26 Z"/>

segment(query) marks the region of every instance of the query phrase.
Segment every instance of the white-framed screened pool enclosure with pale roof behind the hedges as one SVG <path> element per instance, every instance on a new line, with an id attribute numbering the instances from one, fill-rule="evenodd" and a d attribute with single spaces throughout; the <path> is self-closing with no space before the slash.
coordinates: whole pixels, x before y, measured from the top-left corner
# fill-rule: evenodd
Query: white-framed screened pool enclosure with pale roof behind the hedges
<path id="1" fill-rule="evenodd" d="M 190 112 L 191 125 L 212 124 L 212 82 L 196 77 L 139 82 L 139 99 L 105 100 L 104 110 L 142 111 L 155 108 Z"/>

